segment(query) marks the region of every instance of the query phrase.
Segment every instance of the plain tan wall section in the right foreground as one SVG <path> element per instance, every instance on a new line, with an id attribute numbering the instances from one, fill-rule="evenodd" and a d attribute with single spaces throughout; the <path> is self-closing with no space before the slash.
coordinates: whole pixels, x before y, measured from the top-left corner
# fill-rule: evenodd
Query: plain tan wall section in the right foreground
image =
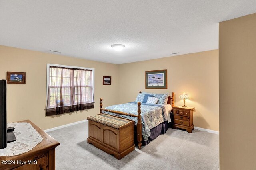
<path id="1" fill-rule="evenodd" d="M 220 23 L 220 169 L 256 168 L 256 13 Z"/>

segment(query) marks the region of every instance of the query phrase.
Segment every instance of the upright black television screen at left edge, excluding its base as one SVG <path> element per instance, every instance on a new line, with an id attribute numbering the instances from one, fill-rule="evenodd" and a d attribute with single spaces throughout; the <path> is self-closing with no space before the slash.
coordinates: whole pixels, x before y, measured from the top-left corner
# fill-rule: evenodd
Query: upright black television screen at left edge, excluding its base
<path id="1" fill-rule="evenodd" d="M 0 149 L 7 147 L 6 80 L 0 80 Z"/>

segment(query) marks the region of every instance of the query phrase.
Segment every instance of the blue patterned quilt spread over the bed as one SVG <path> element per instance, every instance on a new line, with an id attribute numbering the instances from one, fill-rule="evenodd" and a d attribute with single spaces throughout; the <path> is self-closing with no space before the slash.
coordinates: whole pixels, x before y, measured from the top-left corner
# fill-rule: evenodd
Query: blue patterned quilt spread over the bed
<path id="1" fill-rule="evenodd" d="M 130 102 L 125 104 L 118 104 L 113 106 L 108 106 L 106 109 L 122 111 L 125 113 L 131 113 L 134 115 L 138 115 L 138 105 L 137 102 Z M 137 124 L 137 117 L 130 117 L 125 115 L 118 115 L 115 113 L 105 112 L 103 113 L 115 115 L 119 117 L 124 117 L 126 119 L 134 120 L 135 125 Z M 148 140 L 150 136 L 150 129 L 158 126 L 160 123 L 168 120 L 166 111 L 161 105 L 153 105 L 153 104 L 141 104 L 141 117 L 142 117 L 142 135 L 144 141 Z"/>

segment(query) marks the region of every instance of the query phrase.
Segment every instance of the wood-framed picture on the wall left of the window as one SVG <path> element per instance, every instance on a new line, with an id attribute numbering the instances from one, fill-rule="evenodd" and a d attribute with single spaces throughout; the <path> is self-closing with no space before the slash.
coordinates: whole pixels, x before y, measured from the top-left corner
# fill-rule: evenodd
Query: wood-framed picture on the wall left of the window
<path id="1" fill-rule="evenodd" d="M 26 72 L 7 72 L 7 84 L 26 84 Z"/>

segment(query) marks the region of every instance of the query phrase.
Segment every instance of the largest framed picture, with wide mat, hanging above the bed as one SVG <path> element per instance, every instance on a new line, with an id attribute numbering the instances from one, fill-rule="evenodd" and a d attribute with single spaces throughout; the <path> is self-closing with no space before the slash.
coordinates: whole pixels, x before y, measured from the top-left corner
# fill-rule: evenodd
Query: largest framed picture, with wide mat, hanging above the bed
<path id="1" fill-rule="evenodd" d="M 167 70 L 145 71 L 145 88 L 167 89 Z"/>

